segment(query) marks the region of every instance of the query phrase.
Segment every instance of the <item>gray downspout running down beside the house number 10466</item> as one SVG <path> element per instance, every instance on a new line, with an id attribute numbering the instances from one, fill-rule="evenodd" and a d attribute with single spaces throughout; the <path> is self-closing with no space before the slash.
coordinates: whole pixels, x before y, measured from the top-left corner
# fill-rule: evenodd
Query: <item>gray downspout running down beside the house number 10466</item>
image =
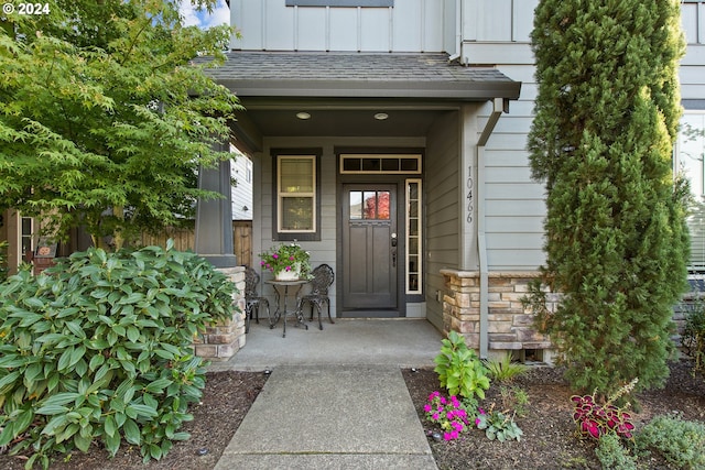
<path id="1" fill-rule="evenodd" d="M 495 98 L 492 112 L 477 141 L 477 249 L 480 262 L 480 358 L 487 359 L 489 351 L 489 269 L 487 266 L 487 238 L 485 234 L 485 145 L 502 112 L 507 112 L 509 100 Z"/>

